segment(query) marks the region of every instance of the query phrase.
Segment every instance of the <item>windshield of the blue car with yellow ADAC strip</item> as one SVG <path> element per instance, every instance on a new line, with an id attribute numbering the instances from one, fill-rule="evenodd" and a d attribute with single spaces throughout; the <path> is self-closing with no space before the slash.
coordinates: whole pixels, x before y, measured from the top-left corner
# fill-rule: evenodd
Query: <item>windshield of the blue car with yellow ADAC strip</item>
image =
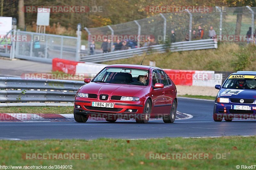
<path id="1" fill-rule="evenodd" d="M 229 89 L 256 89 L 256 76 L 250 75 L 231 75 L 223 85 Z"/>

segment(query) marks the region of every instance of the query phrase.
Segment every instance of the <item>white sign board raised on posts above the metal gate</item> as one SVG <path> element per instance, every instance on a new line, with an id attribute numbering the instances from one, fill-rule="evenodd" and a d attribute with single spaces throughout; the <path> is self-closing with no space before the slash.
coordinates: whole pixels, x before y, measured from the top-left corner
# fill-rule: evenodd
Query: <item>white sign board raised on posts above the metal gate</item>
<path id="1" fill-rule="evenodd" d="M 50 8 L 37 8 L 36 25 L 49 26 L 50 23 Z"/>

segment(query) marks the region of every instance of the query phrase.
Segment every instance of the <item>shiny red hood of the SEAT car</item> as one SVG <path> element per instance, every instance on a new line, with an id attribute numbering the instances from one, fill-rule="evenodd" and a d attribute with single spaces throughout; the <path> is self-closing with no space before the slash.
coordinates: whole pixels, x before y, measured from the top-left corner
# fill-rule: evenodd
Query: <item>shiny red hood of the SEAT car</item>
<path id="1" fill-rule="evenodd" d="M 108 94 L 109 96 L 133 96 L 147 86 L 113 83 L 88 83 L 81 88 L 81 93 Z M 135 96 L 140 97 L 140 96 Z"/>

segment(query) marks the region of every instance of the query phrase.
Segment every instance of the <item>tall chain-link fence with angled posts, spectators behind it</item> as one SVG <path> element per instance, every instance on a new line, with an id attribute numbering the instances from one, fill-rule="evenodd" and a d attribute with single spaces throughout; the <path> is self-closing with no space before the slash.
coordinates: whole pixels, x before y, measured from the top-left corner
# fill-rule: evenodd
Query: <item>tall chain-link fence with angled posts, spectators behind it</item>
<path id="1" fill-rule="evenodd" d="M 253 15 L 254 12 L 254 15 Z M 201 39 L 198 26 L 202 26 L 204 35 L 202 39 L 208 39 L 210 26 L 216 32 L 216 38 L 218 41 L 222 40 L 222 37 L 228 37 L 225 41 L 234 41 L 240 44 L 246 44 L 247 39 L 234 40 L 234 37 L 243 36 L 248 34 L 249 27 L 256 30 L 256 7 L 210 7 L 209 12 L 169 12 L 159 13 L 153 17 L 140 19 L 137 21 L 126 22 L 117 25 L 89 28 L 87 29 L 90 36 L 102 37 L 103 35 L 150 35 L 155 38 L 155 41 L 163 44 L 171 42 L 173 30 L 175 33 L 175 41 L 189 41 Z M 253 24 L 254 23 L 254 24 Z M 254 31 L 252 31 L 254 33 Z M 251 35 L 252 35 L 251 33 Z M 222 36 L 220 36 L 222 35 Z M 255 33 L 254 33 L 255 35 Z M 166 37 L 164 39 L 163 37 Z M 102 39 L 95 39 L 96 49 L 101 47 Z M 114 44 L 115 41 L 108 40 L 109 44 Z M 165 41 L 164 41 L 165 40 Z M 89 44 L 91 44 L 91 38 L 88 37 Z M 137 48 L 145 46 L 145 41 L 137 41 L 135 46 L 130 46 L 129 39 L 121 40 L 128 41 L 126 46 L 128 48 Z M 146 40 L 147 41 L 147 40 Z M 252 39 L 253 42 L 253 39 Z M 122 45 L 122 44 L 121 44 Z M 111 50 L 115 50 L 115 47 Z"/>

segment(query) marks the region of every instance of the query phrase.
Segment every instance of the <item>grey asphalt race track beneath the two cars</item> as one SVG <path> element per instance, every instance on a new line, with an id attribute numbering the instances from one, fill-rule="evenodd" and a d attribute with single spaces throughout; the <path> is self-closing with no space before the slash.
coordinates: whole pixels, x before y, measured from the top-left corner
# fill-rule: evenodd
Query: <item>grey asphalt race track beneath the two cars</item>
<path id="1" fill-rule="evenodd" d="M 147 139 L 163 137 L 222 137 L 256 135 L 255 120 L 214 122 L 213 101 L 178 99 L 178 110 L 192 119 L 174 123 L 110 122 L 1 122 L 0 139 Z"/>

